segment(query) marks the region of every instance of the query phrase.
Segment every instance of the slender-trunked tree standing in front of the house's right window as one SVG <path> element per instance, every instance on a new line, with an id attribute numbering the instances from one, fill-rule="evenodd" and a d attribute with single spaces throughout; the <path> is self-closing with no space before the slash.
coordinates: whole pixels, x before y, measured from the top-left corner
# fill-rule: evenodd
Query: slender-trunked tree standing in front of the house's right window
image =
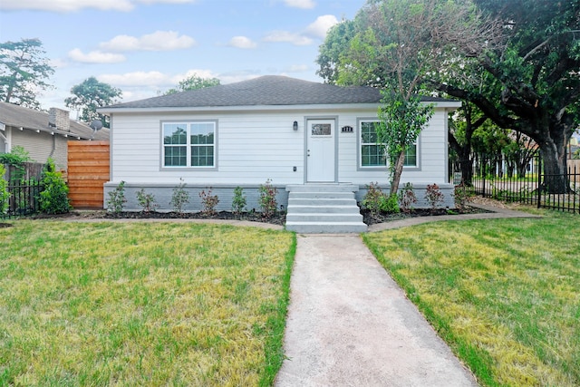
<path id="1" fill-rule="evenodd" d="M 352 22 L 335 25 L 321 46 L 318 73 L 326 82 L 383 90 L 377 136 L 389 156 L 391 193 L 398 189 L 405 151 L 433 112 L 420 103 L 424 79 L 449 57 L 449 44 L 471 16 L 454 2 L 372 0 Z"/>

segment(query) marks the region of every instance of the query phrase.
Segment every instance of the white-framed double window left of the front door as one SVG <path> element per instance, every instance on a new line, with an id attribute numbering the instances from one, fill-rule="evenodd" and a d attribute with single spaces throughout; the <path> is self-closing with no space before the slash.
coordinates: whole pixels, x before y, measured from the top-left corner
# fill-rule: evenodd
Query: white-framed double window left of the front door
<path id="1" fill-rule="evenodd" d="M 162 122 L 163 167 L 216 168 L 216 121 Z"/>

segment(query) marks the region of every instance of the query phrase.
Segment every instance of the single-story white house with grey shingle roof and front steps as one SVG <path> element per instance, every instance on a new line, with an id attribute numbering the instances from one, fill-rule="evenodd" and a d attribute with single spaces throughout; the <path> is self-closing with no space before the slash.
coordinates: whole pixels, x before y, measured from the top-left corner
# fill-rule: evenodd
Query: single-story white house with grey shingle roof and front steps
<path id="1" fill-rule="evenodd" d="M 258 187 L 271 180 L 278 204 L 288 189 L 314 184 L 352 187 L 361 200 L 372 182 L 388 187 L 382 146 L 374 124 L 381 101 L 371 87 L 340 87 L 285 76 L 218 85 L 126 102 L 100 109 L 111 116 L 111 181 L 125 182 L 126 208 L 139 210 L 139 189 L 170 210 L 172 191 L 183 179 L 189 210 L 198 211 L 198 191 L 212 188 L 218 210 L 230 210 L 233 189 L 244 189 L 247 208 L 259 210 Z M 429 126 L 405 160 L 401 184 L 411 182 L 420 202 L 428 184 L 453 207 L 448 172 L 449 111 L 460 102 L 423 98 L 435 105 Z"/>

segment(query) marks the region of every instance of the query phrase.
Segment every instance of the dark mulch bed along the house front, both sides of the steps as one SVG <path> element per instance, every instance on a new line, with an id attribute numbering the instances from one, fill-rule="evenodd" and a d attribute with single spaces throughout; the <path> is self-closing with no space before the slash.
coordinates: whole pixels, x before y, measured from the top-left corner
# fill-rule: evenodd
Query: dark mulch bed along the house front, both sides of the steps
<path id="1" fill-rule="evenodd" d="M 362 209 L 361 214 L 363 218 L 363 222 L 367 225 L 371 226 L 377 223 L 384 223 L 390 222 L 392 220 L 400 220 L 405 218 L 417 218 L 417 217 L 437 217 L 440 215 L 459 215 L 459 214 L 477 214 L 477 213 L 484 213 L 489 212 L 485 209 L 475 208 L 466 206 L 465 208 L 456 208 L 456 209 L 446 209 L 446 208 L 438 208 L 438 209 L 426 209 L 426 208 L 417 208 L 413 209 L 409 212 L 400 212 L 398 214 L 387 214 L 381 213 L 378 215 L 372 215 L 367 209 Z M 243 212 L 240 214 L 234 214 L 230 211 L 220 211 L 216 212 L 214 215 L 203 214 L 200 212 L 195 213 L 182 213 L 178 214 L 176 212 L 121 212 L 120 214 L 112 214 L 111 212 L 107 212 L 104 210 L 75 210 L 69 212 L 68 214 L 57 214 L 57 215 L 48 215 L 48 214 L 38 214 L 32 217 L 33 219 L 46 219 L 46 218 L 74 218 L 74 219 L 82 219 L 82 218 L 91 218 L 91 219 L 175 219 L 175 218 L 182 218 L 182 219 L 226 219 L 226 220 L 246 220 L 252 222 L 263 222 L 263 223 L 271 223 L 278 226 L 284 226 L 286 222 L 286 214 L 285 212 L 277 212 L 273 217 L 265 218 L 259 212 Z M 0 226 L 1 227 L 1 226 Z"/>

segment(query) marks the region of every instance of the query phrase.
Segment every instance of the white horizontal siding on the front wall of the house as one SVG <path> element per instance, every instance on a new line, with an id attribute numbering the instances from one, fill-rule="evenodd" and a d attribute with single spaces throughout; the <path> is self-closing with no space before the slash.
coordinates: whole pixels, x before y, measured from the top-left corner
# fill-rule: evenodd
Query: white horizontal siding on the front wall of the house
<path id="1" fill-rule="evenodd" d="M 127 183 L 189 184 L 208 186 L 304 183 L 304 123 L 307 119 L 337 118 L 339 182 L 365 185 L 386 183 L 388 172 L 358 169 L 357 120 L 376 117 L 366 110 L 232 111 L 226 113 L 129 113 L 116 112 L 111 129 L 111 181 Z M 161 168 L 161 121 L 217 120 L 218 168 L 216 170 Z M 298 131 L 292 124 L 298 121 Z M 402 181 L 444 183 L 447 175 L 447 113 L 438 109 L 430 126 L 420 135 L 420 168 L 403 171 Z M 341 132 L 344 126 L 353 132 Z M 296 171 L 294 171 L 296 167 Z"/>

